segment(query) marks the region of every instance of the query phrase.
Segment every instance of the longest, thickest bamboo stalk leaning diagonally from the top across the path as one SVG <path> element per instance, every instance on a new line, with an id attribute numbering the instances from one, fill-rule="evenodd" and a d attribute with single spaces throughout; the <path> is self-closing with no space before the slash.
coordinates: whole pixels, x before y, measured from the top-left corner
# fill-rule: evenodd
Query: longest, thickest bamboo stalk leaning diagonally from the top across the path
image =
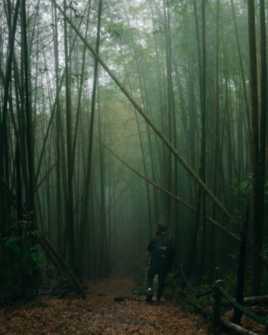
<path id="1" fill-rule="evenodd" d="M 59 12 L 62 15 L 64 15 L 64 11 L 56 3 L 56 1 L 54 1 L 54 0 L 51 0 L 51 1 L 53 1 L 53 3 L 55 4 L 55 6 L 57 6 Z M 168 147 L 168 149 L 170 149 L 170 151 L 172 152 L 172 154 L 174 154 L 174 156 L 178 159 L 178 161 L 185 168 L 185 170 L 198 183 L 198 185 L 200 186 L 200 188 L 202 188 L 202 191 L 204 191 L 207 194 L 207 196 L 209 197 L 209 199 L 216 204 L 216 206 L 223 212 L 223 214 L 225 215 L 225 217 L 228 218 L 228 220 L 230 221 L 230 223 L 233 223 L 234 225 L 237 225 L 237 221 L 233 218 L 232 214 L 229 213 L 229 211 L 223 206 L 223 204 L 220 202 L 220 200 L 218 200 L 218 198 L 216 198 L 216 196 L 209 190 L 209 188 L 207 187 L 206 184 L 204 184 L 204 182 L 202 181 L 202 179 L 200 179 L 200 177 L 198 177 L 198 174 L 195 173 L 195 171 L 184 160 L 184 158 L 181 156 L 181 154 L 179 154 L 179 151 L 177 151 L 177 149 L 175 149 L 174 145 L 168 140 L 167 137 L 165 137 L 165 135 L 158 128 L 158 126 L 156 126 L 156 124 L 154 124 L 154 122 L 151 120 L 151 118 L 144 112 L 142 106 L 137 101 L 135 101 L 135 99 L 133 98 L 133 96 L 131 96 L 131 93 L 128 91 L 128 89 L 126 89 L 126 87 L 124 87 L 124 85 L 120 82 L 120 80 L 117 79 L 117 77 L 114 75 L 114 73 L 112 73 L 112 70 L 110 70 L 110 68 L 105 64 L 105 62 L 103 61 L 103 59 L 101 59 L 101 57 L 98 56 L 98 54 L 96 53 L 96 51 L 94 50 L 94 48 L 91 46 L 91 44 L 89 44 L 89 42 L 84 38 L 84 36 L 82 36 L 81 32 L 77 29 L 77 27 L 75 27 L 75 24 L 73 24 L 73 22 L 67 16 L 65 16 L 65 15 L 64 15 L 64 19 L 70 24 L 70 27 L 73 28 L 73 30 L 80 37 L 80 39 L 82 40 L 82 42 L 85 45 L 87 45 L 87 48 L 89 49 L 89 51 L 91 52 L 91 54 L 93 54 L 94 57 L 96 59 L 98 59 L 98 62 L 101 64 L 101 66 L 103 66 L 103 68 L 105 69 L 105 71 L 110 75 L 110 77 L 112 78 L 112 80 L 114 80 L 114 82 L 117 84 L 117 86 L 119 87 L 119 89 L 121 89 L 121 91 L 125 94 L 125 96 L 128 98 L 128 100 L 133 104 L 133 106 L 136 108 L 136 110 L 142 115 L 142 117 L 144 118 L 144 120 L 147 121 L 147 123 L 149 124 L 149 126 L 151 126 L 151 128 L 155 131 L 155 133 L 158 135 L 158 137 L 161 138 L 161 140 L 165 143 L 165 145 Z"/>

